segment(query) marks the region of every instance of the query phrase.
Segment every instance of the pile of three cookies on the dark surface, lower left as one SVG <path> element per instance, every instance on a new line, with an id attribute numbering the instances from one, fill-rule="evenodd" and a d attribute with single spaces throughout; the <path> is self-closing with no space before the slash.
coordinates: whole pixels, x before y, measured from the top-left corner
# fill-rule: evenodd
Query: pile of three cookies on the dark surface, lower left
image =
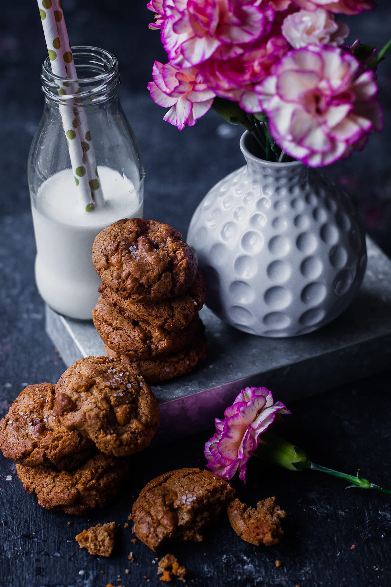
<path id="1" fill-rule="evenodd" d="M 103 507 L 128 475 L 128 458 L 159 426 L 142 377 L 110 357 L 87 357 L 56 385 L 29 385 L 0 420 L 0 449 L 47 510 Z"/>

